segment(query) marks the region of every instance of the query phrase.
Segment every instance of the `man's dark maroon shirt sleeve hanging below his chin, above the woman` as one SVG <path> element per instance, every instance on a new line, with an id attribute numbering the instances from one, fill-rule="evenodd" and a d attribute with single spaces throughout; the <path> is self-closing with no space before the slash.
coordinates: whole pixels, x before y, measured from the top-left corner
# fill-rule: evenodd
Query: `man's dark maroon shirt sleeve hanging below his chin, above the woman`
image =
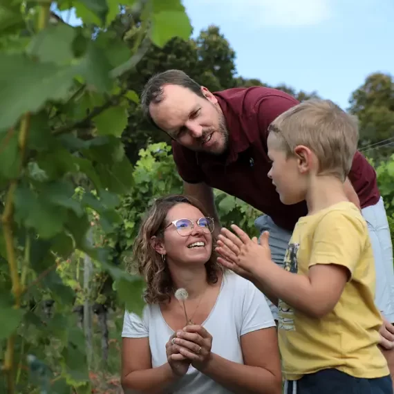
<path id="1" fill-rule="evenodd" d="M 198 165 L 196 153 L 172 141 L 172 156 L 182 180 L 188 183 L 204 182 L 204 174 Z"/>

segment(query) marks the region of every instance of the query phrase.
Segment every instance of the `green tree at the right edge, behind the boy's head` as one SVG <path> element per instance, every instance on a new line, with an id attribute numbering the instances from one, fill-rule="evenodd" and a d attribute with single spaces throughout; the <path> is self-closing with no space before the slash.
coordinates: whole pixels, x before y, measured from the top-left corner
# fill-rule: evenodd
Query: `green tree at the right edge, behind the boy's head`
<path id="1" fill-rule="evenodd" d="M 350 97 L 350 113 L 357 116 L 360 149 L 377 160 L 387 158 L 394 147 L 394 81 L 388 74 L 368 75 Z"/>

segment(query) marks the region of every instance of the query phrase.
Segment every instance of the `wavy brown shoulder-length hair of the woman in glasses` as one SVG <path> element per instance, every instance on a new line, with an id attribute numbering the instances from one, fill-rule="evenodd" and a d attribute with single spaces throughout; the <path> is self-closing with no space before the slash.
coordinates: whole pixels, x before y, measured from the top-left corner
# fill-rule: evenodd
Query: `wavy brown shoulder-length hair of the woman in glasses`
<path id="1" fill-rule="evenodd" d="M 144 299 L 147 303 L 162 303 L 170 301 L 174 292 L 171 274 L 167 263 L 162 256 L 153 249 L 151 237 L 162 238 L 162 230 L 165 228 L 165 218 L 169 210 L 180 203 L 193 205 L 207 216 L 205 209 L 198 203 L 198 200 L 182 194 L 172 194 L 170 196 L 158 198 L 147 212 L 140 225 L 140 231 L 135 238 L 133 245 L 133 261 L 137 265 L 138 272 L 144 276 L 147 282 L 147 289 L 144 292 Z M 214 239 L 212 239 L 214 245 Z M 212 254 L 205 263 L 208 283 L 218 281 L 218 272 L 223 268 L 216 262 L 216 255 L 212 247 Z"/>

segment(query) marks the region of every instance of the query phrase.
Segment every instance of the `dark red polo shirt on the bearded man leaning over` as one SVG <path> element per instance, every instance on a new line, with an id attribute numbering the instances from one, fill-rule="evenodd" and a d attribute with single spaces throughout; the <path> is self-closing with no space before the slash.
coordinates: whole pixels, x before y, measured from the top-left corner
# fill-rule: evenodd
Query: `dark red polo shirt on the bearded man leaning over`
<path id="1" fill-rule="evenodd" d="M 254 86 L 214 93 L 229 129 L 226 156 L 194 152 L 172 142 L 178 173 L 189 183 L 205 182 L 211 187 L 241 198 L 271 216 L 276 225 L 292 230 L 307 214 L 306 203 L 284 205 L 267 173 L 270 171 L 267 137 L 269 124 L 281 113 L 298 104 L 276 89 Z M 379 200 L 376 173 L 357 151 L 349 174 L 362 208 Z"/>

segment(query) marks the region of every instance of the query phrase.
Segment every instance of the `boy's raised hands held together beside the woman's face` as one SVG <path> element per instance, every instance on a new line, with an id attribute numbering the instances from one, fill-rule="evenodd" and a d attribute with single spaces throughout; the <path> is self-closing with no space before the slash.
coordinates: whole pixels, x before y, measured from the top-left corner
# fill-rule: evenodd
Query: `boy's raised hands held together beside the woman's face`
<path id="1" fill-rule="evenodd" d="M 218 262 L 236 274 L 251 279 L 257 268 L 271 262 L 271 251 L 268 244 L 269 233 L 263 232 L 261 234 L 259 245 L 256 237 L 250 239 L 238 226 L 232 225 L 232 229 L 236 235 L 228 229 L 222 228 L 221 230 L 221 235 L 218 238 L 219 247 L 216 248 L 216 252 L 222 257 L 218 258 Z"/>

